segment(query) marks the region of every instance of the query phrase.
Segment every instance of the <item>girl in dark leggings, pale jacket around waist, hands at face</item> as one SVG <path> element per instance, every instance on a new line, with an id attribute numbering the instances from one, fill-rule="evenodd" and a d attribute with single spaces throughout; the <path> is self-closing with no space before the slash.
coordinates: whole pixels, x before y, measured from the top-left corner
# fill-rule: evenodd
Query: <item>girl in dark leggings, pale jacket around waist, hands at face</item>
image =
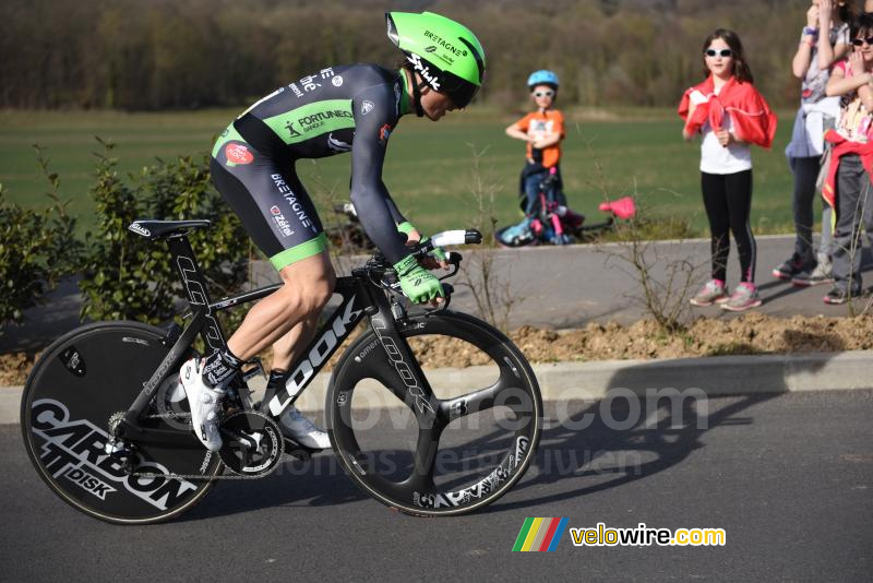
<path id="1" fill-rule="evenodd" d="M 822 245 L 816 255 L 812 246 L 813 201 L 825 152 L 824 133 L 839 116 L 839 99 L 827 97 L 825 85 L 832 66 L 851 48 L 848 22 L 857 10 L 854 4 L 850 0 L 812 0 L 791 62 L 792 73 L 801 80 L 801 93 L 791 142 L 785 154 L 794 175 L 792 206 L 797 237 L 793 253 L 773 270 L 773 275 L 791 279 L 797 286 L 832 281 L 829 207 L 823 216 Z"/>

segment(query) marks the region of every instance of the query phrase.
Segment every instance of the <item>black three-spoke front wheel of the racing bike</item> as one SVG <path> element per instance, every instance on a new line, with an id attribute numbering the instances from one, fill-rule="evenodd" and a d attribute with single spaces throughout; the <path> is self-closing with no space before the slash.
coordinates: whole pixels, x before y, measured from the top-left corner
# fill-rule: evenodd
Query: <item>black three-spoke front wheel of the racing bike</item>
<path id="1" fill-rule="evenodd" d="M 414 317 L 399 333 L 418 362 L 439 337 L 453 343 L 451 354 L 473 352 L 486 365 L 447 377 L 445 369 L 424 370 L 433 388 L 428 417 L 379 337 L 372 330 L 361 335 L 334 369 L 326 396 L 340 465 L 368 495 L 408 514 L 456 515 L 490 504 L 522 478 L 539 443 L 542 398 L 530 366 L 503 334 L 466 314 Z M 453 374 L 461 382 L 450 388 Z M 428 418 L 433 427 L 422 426 Z"/>

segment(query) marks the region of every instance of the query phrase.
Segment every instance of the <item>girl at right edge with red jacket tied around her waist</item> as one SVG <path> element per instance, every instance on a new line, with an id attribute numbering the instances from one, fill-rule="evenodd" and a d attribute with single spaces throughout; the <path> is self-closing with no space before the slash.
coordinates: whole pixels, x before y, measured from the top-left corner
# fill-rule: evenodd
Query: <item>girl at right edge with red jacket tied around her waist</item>
<path id="1" fill-rule="evenodd" d="M 825 304 L 845 304 L 862 291 L 861 223 L 873 204 L 873 14 L 856 17 L 850 36 L 852 52 L 834 67 L 826 87 L 841 97 L 841 107 L 836 129 L 825 134 L 833 150 L 822 195 L 836 215 L 834 287 Z"/>

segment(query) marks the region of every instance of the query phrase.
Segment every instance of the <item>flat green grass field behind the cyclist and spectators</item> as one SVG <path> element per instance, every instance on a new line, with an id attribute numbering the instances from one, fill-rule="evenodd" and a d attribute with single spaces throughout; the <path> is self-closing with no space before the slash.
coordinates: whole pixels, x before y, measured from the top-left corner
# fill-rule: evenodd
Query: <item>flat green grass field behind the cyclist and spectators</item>
<path id="1" fill-rule="evenodd" d="M 237 112 L 0 111 L 0 183 L 12 202 L 47 204 L 47 182 L 31 147 L 39 143 L 47 147 L 51 168 L 61 177 L 63 195 L 72 200 L 72 212 L 88 228 L 95 221 L 88 195 L 93 152 L 100 150 L 94 135 L 116 142 L 119 168 L 136 172 L 155 157 L 208 151 L 213 136 Z M 569 123 L 562 162 L 565 191 L 574 209 L 593 219 L 599 214 L 605 188 L 613 199 L 636 191 L 651 212 L 689 217 L 698 234 L 706 234 L 697 171 L 699 146 L 682 141 L 680 121 L 670 111 L 612 112 L 607 120 L 589 120 L 586 112 L 567 117 L 582 120 Z M 497 189 L 498 218 L 501 224 L 517 221 L 524 145 L 503 133 L 514 119 L 475 110 L 450 114 L 435 124 L 404 118 L 392 134 L 384 169 L 385 183 L 400 209 L 428 231 L 470 224 L 476 151 L 480 153 L 478 178 Z M 792 230 L 791 175 L 782 154 L 792 121 L 789 115 L 780 116 L 774 148 L 755 148 L 753 154 L 756 233 Z M 347 199 L 348 156 L 302 160 L 298 171 L 316 200 Z"/>

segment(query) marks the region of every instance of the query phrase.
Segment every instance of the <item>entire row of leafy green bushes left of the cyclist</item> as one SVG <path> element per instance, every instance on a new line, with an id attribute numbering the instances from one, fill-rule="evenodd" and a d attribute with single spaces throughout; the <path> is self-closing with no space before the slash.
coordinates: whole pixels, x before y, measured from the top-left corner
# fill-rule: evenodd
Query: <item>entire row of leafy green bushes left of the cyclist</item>
<path id="1" fill-rule="evenodd" d="M 48 170 L 43 150 L 37 158 L 52 191 L 52 204 L 36 211 L 9 204 L 0 185 L 0 331 L 21 322 L 58 281 L 81 274 L 82 320 L 166 322 L 187 304 L 169 251 L 128 230 L 136 218 L 207 218 L 208 229 L 190 234 L 214 297 L 239 290 L 248 279 L 252 246 L 236 215 L 212 187 L 208 158 L 157 159 L 137 175 L 122 177 L 113 144 L 99 140 L 95 182 L 97 227 L 84 240 L 58 193 L 60 179 Z M 241 314 L 237 314 L 239 318 Z"/>

